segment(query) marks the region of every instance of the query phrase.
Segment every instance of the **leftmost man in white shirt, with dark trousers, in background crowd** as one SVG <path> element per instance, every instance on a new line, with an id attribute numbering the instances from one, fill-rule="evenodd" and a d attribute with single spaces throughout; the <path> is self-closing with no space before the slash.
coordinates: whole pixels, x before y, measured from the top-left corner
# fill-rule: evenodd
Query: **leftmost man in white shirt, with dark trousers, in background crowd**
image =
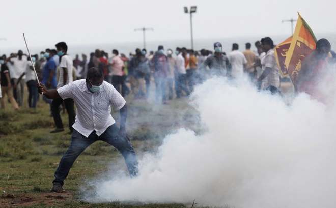
<path id="1" fill-rule="evenodd" d="M 19 50 L 17 53 L 17 57 L 10 56 L 8 61 L 14 67 L 14 73 L 12 75 L 12 79 L 14 83 L 17 83 L 17 80 L 21 76 L 23 72 L 25 72 L 27 66 L 27 57 L 23 55 L 22 50 Z M 16 87 L 16 95 L 14 94 L 14 98 L 17 101 L 17 104 L 21 107 L 23 105 L 23 94 L 24 94 L 24 85 L 25 85 L 25 76 L 22 77 L 20 83 L 18 83 Z M 16 97 L 15 97 L 16 96 Z"/>

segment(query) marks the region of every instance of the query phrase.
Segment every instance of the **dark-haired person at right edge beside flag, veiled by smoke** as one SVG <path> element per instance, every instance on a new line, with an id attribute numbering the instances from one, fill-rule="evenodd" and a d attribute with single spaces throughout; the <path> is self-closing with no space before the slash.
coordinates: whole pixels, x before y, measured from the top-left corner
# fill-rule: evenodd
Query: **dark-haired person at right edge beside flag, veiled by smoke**
<path id="1" fill-rule="evenodd" d="M 295 92 L 304 92 L 322 103 L 326 103 L 328 94 L 334 86 L 332 72 L 328 68 L 326 58 L 330 52 L 331 45 L 327 39 L 320 39 L 316 42 L 316 49 L 307 55 L 302 62 L 300 73 L 295 82 Z"/>

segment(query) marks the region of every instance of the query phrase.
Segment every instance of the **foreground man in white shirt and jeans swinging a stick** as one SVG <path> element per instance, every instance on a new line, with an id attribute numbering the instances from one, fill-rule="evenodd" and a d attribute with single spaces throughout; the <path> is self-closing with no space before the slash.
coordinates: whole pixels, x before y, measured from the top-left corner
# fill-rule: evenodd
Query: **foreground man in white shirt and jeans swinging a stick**
<path id="1" fill-rule="evenodd" d="M 77 106 L 71 144 L 55 172 L 51 191 L 66 192 L 62 186 L 71 166 L 80 153 L 97 140 L 116 147 L 125 158 L 130 176 L 137 175 L 138 161 L 126 136 L 126 101 L 113 85 L 104 81 L 103 72 L 99 68 L 90 68 L 87 79 L 76 80 L 58 90 L 47 90 L 40 82 L 38 90 L 49 99 L 72 98 Z M 120 109 L 120 128 L 111 116 L 111 105 L 117 110 Z"/>

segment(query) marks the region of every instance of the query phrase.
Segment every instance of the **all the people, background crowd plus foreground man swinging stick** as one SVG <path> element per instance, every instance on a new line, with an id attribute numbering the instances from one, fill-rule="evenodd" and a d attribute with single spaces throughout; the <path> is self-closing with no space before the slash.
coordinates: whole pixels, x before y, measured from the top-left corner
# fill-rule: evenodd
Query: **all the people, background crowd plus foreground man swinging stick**
<path id="1" fill-rule="evenodd" d="M 195 85 L 211 76 L 227 77 L 232 81 L 248 77 L 260 90 L 277 94 L 280 74 L 274 43 L 265 37 L 255 42 L 255 46 L 257 50 L 252 51 L 251 44 L 246 43 L 245 50 L 240 52 L 239 45 L 233 43 L 232 51 L 226 54 L 219 42 L 213 44 L 214 52 L 184 47 L 165 51 L 160 45 L 149 55 L 146 49 L 136 49 L 129 57 L 113 49 L 110 58 L 108 53 L 96 49 L 90 58 L 83 54 L 82 60 L 78 55 L 72 60 L 65 42 L 55 44 L 55 49 L 45 49 L 40 55 L 33 55 L 32 59 L 19 50 L 9 57 L 0 57 L 1 107 L 5 108 L 7 95 L 8 102 L 19 110 L 23 106 L 26 84 L 30 108 L 36 108 L 38 93 L 50 105 L 50 115 L 56 126 L 50 133 L 64 131 L 60 109 L 67 110 L 71 144 L 55 171 L 51 191 L 66 192 L 64 180 L 74 161 L 97 140 L 115 146 L 124 156 L 129 175 L 135 177 L 138 175 L 138 160 L 126 134 L 127 104 L 124 97 L 131 94 L 135 99 L 148 99 L 150 85 L 154 83 L 156 103 L 166 104 L 167 99 L 188 96 Z M 296 92 L 305 92 L 318 101 L 325 101 L 326 95 L 318 85 L 321 78 L 332 80 L 327 70 L 330 49 L 328 40 L 317 41 L 316 49 L 307 55 L 302 72 L 294 83 Z M 335 63 L 334 58 L 330 60 L 329 63 Z M 37 82 L 37 77 L 40 82 Z M 120 127 L 111 116 L 110 106 L 120 110 Z"/>

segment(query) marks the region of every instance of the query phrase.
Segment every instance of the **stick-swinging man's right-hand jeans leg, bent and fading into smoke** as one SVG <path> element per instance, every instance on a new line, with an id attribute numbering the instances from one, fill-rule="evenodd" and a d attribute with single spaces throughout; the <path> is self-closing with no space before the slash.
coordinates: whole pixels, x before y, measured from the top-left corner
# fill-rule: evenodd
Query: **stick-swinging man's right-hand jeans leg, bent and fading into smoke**
<path id="1" fill-rule="evenodd" d="M 130 141 L 126 138 L 118 138 L 119 128 L 116 124 L 109 126 L 106 131 L 99 136 L 99 140 L 105 141 L 119 150 L 124 156 L 125 163 L 130 177 L 137 176 L 138 161 Z"/>

